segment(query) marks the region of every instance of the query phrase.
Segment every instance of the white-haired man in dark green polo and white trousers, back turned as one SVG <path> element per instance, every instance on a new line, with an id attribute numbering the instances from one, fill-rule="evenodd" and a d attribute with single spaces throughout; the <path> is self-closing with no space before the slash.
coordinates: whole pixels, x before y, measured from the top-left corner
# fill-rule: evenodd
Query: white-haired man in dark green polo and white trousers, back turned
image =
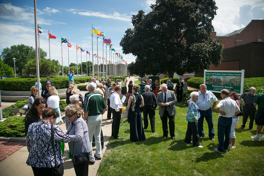
<path id="1" fill-rule="evenodd" d="M 89 132 L 90 147 L 92 148 L 93 136 L 95 139 L 95 154 L 90 151 L 90 163 L 95 162 L 95 158 L 102 158 L 102 148 L 100 142 L 102 115 L 106 111 L 106 104 L 101 94 L 96 92 L 96 84 L 91 82 L 88 84 L 89 95 L 85 98 L 84 103 L 84 120 L 86 120 Z"/>

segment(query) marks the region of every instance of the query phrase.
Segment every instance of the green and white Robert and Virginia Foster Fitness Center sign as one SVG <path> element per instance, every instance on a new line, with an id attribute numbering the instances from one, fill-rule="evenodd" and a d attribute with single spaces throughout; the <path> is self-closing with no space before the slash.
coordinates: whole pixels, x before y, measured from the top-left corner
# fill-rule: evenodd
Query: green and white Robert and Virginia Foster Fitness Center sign
<path id="1" fill-rule="evenodd" d="M 244 71 L 208 71 L 204 70 L 204 84 L 211 92 L 221 92 L 227 89 L 229 92 L 243 93 Z"/>

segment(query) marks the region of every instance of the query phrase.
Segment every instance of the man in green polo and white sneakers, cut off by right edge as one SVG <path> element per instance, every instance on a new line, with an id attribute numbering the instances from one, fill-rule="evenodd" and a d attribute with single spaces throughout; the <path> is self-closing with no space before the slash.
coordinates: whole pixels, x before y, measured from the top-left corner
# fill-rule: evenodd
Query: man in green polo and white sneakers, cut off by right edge
<path id="1" fill-rule="evenodd" d="M 257 125 L 257 135 L 251 136 L 251 139 L 259 141 L 260 140 L 259 136 L 262 130 L 262 126 L 264 125 L 264 92 L 257 94 L 254 100 L 254 106 L 256 105 L 258 105 L 258 110 L 255 115 L 255 124 Z M 264 130 L 261 139 L 264 141 Z"/>

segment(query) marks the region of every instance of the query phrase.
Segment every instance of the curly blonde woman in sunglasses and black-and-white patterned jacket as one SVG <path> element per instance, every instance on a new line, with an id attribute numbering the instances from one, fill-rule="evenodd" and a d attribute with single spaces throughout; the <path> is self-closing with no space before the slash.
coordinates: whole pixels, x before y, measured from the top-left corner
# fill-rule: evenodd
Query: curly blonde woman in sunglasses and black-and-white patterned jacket
<path id="1" fill-rule="evenodd" d="M 81 113 L 81 107 L 78 104 L 69 104 L 65 107 L 65 114 L 70 122 L 67 134 L 76 136 L 74 140 L 69 142 L 71 155 L 82 152 L 89 153 L 91 150 L 88 127 L 84 119 L 81 118 Z M 88 162 L 76 164 L 73 167 L 76 175 L 88 175 Z"/>

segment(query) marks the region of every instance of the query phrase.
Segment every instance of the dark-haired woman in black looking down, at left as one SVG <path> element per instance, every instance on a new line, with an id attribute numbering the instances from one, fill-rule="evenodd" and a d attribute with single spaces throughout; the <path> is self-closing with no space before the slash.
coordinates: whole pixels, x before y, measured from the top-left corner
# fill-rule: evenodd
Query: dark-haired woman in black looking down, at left
<path id="1" fill-rule="evenodd" d="M 41 121 L 41 115 L 44 111 L 44 109 L 47 107 L 45 98 L 37 98 L 30 109 L 28 110 L 25 118 L 25 135 L 27 135 L 28 127 L 31 123 L 34 122 L 40 122 Z"/>

